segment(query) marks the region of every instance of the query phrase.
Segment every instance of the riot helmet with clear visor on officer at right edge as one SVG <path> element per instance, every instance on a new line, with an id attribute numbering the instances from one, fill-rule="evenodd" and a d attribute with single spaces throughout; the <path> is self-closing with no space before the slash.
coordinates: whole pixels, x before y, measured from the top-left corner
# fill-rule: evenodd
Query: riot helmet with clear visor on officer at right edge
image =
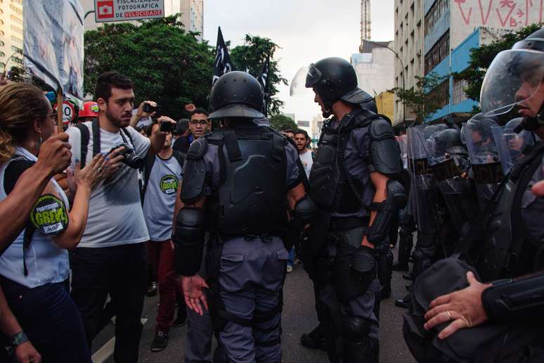
<path id="1" fill-rule="evenodd" d="M 480 106 L 486 115 L 502 115 L 530 99 L 539 101 L 534 117 L 525 117 L 522 127 L 534 130 L 544 125 L 544 28 L 501 51 L 489 66 L 481 86 Z"/>

